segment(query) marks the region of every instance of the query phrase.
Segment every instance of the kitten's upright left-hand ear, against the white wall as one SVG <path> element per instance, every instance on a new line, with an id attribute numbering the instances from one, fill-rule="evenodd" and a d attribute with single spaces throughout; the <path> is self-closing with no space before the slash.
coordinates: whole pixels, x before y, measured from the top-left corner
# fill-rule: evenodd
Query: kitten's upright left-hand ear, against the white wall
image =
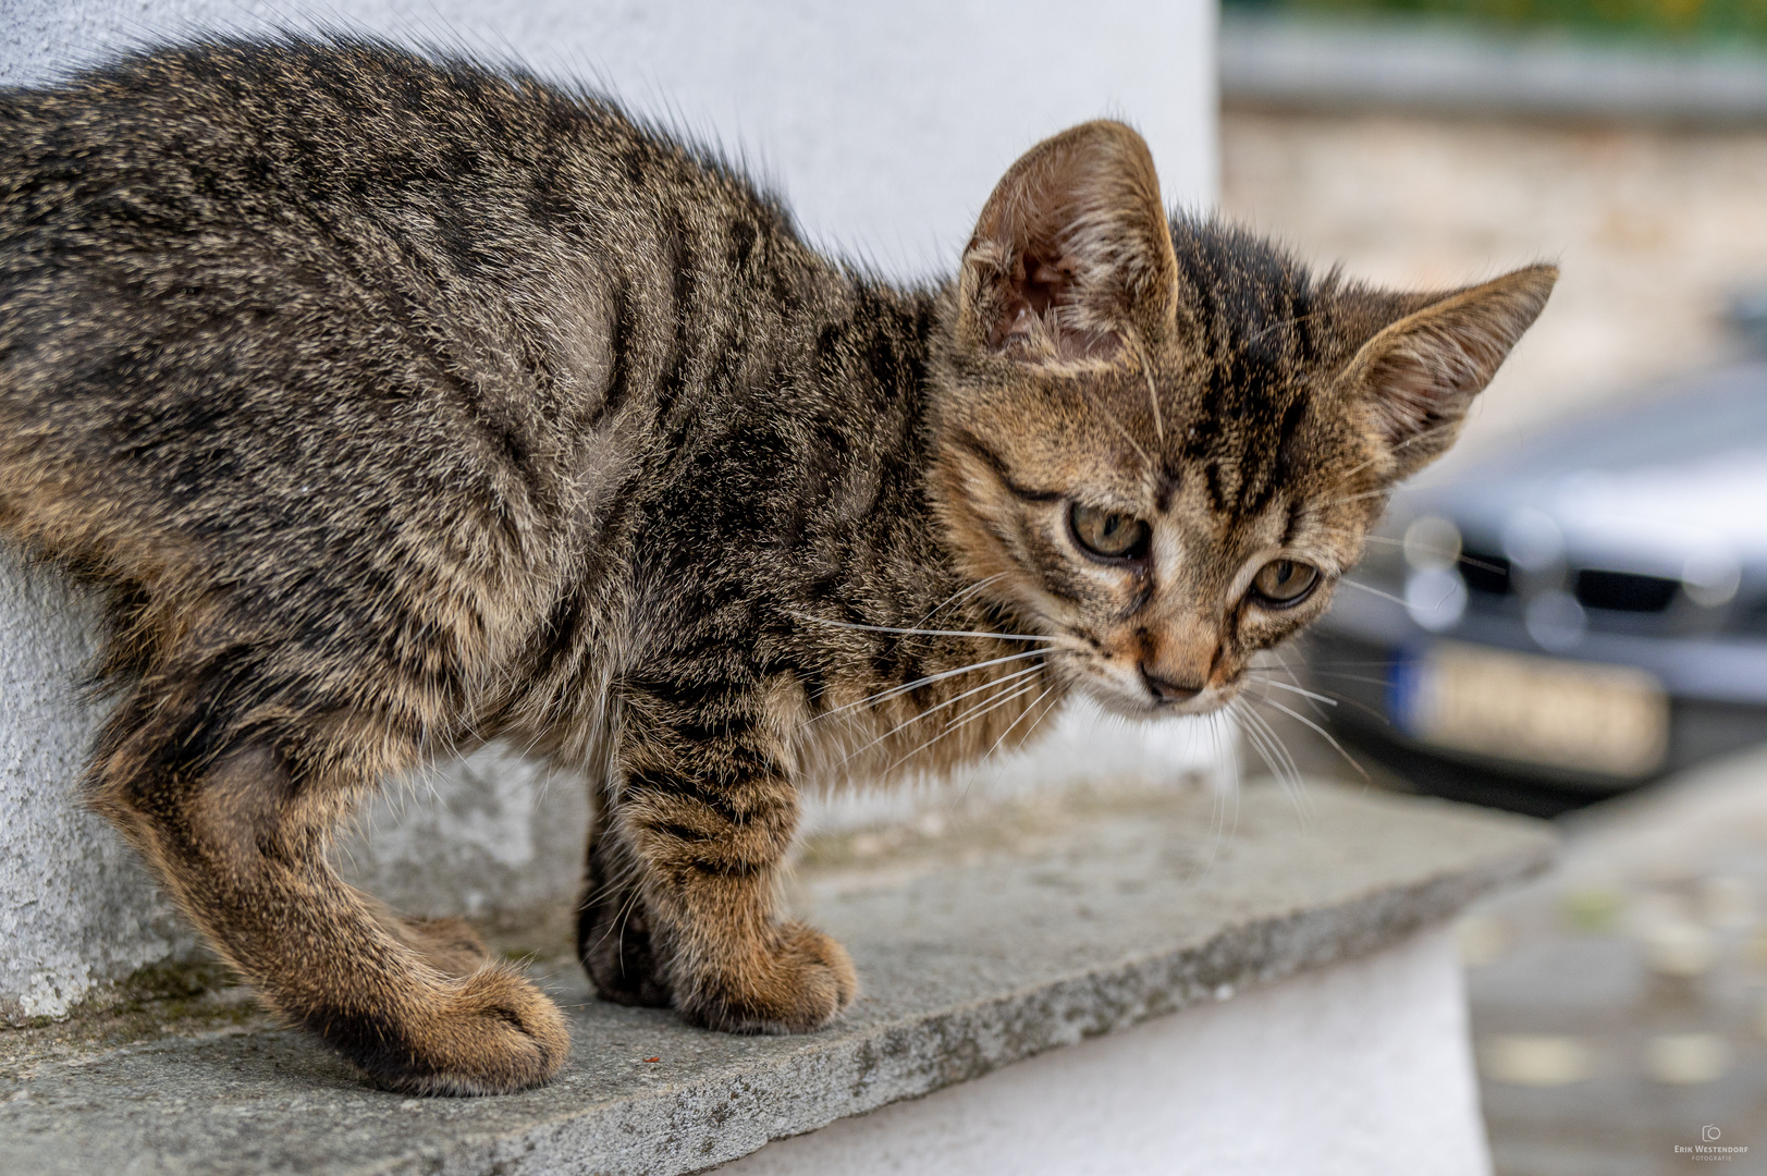
<path id="1" fill-rule="evenodd" d="M 1147 143 L 1087 122 L 1000 179 L 963 253 L 959 338 L 1032 363 L 1111 357 L 1172 320 L 1177 258 Z"/>

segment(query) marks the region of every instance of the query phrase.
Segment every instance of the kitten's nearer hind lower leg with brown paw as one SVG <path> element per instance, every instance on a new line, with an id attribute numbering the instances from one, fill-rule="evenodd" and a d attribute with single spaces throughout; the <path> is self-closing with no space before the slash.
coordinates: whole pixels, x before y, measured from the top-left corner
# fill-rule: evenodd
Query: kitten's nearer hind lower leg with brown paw
<path id="1" fill-rule="evenodd" d="M 348 753 L 292 767 L 288 748 L 313 762 L 313 732 L 191 764 L 178 729 L 140 700 L 111 730 L 97 806 L 270 1008 L 391 1089 L 502 1093 L 558 1070 L 569 1035 L 539 989 L 486 960 L 463 925 L 398 920 L 329 865 L 332 828 L 378 778 L 368 764 L 355 780 L 339 767 Z"/>

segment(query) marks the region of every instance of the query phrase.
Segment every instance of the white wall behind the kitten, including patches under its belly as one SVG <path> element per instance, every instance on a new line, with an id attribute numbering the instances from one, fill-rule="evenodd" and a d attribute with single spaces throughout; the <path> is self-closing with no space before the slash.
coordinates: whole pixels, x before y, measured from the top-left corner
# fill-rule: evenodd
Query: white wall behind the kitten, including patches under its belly
<path id="1" fill-rule="evenodd" d="M 894 276 L 947 271 L 1000 172 L 1035 140 L 1117 115 L 1147 134 L 1166 198 L 1216 186 L 1209 0 L 0 0 L 0 85 L 41 83 L 141 41 L 270 25 L 371 30 L 594 80 L 640 113 L 724 143 L 809 233 Z M 62 1015 L 110 980 L 187 951 L 140 865 L 78 806 L 95 722 L 71 690 L 90 607 L 0 550 L 0 1019 Z M 1104 767 L 1209 769 L 1207 732 L 1066 720 L 982 789 Z M 901 817 L 938 796 L 820 805 L 820 826 Z M 502 750 L 392 790 L 350 872 L 415 914 L 565 902 L 587 801 Z"/>

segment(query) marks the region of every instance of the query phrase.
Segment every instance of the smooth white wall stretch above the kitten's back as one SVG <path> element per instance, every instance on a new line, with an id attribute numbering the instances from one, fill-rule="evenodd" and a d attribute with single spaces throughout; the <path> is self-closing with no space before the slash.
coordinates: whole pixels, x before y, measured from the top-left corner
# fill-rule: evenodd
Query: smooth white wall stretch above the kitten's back
<path id="1" fill-rule="evenodd" d="M 1005 166 L 1099 115 L 1141 129 L 1170 202 L 1214 202 L 1207 0 L 7 0 L 0 85 L 290 14 L 594 80 L 724 143 L 813 237 L 892 274 L 949 269 Z"/>

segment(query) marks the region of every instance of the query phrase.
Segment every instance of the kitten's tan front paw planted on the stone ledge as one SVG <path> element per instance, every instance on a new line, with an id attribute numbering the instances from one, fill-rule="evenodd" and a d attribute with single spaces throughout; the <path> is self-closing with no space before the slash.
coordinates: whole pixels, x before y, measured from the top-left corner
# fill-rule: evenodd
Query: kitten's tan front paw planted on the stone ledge
<path id="1" fill-rule="evenodd" d="M 783 923 L 744 967 L 693 985 L 680 1015 L 726 1033 L 809 1033 L 857 996 L 859 973 L 846 948 L 802 923 Z"/>

